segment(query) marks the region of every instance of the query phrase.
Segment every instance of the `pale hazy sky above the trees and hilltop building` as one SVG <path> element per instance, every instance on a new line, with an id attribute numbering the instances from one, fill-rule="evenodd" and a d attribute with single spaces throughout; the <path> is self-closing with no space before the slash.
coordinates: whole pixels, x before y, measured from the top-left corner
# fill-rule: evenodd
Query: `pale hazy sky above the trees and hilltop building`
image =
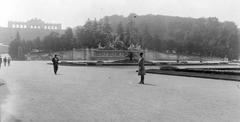
<path id="1" fill-rule="evenodd" d="M 83 25 L 106 15 L 158 14 L 217 17 L 240 27 L 240 0 L 0 0 L 0 26 L 8 21 L 40 18 L 63 27 Z"/>

